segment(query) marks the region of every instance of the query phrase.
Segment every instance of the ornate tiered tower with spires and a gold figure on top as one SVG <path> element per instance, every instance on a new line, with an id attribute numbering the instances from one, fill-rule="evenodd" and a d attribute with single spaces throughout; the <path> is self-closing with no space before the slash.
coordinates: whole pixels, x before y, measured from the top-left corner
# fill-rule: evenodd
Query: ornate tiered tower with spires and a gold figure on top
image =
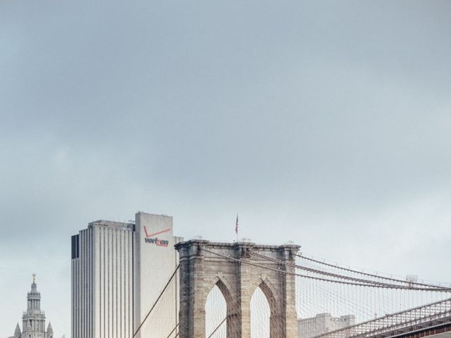
<path id="1" fill-rule="evenodd" d="M 9 338 L 53 338 L 51 324 L 45 330 L 45 314 L 41 311 L 41 294 L 37 292 L 36 279 L 33 275 L 31 291 L 27 294 L 27 311 L 22 316 L 22 331 L 16 325 L 14 335 Z"/>

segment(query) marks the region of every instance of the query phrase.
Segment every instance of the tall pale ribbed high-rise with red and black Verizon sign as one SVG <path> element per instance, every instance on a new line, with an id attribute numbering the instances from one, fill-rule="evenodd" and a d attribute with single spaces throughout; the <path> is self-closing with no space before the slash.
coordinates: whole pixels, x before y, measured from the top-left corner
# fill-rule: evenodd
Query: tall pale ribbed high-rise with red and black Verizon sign
<path id="1" fill-rule="evenodd" d="M 172 217 L 97 220 L 72 237 L 73 338 L 130 338 L 178 264 Z M 176 325 L 178 299 L 174 294 Z"/>

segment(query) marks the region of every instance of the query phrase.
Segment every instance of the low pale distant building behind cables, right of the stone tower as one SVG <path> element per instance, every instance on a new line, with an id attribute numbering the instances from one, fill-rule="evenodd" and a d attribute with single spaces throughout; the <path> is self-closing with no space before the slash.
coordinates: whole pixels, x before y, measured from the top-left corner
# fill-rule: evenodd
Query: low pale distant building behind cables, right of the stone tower
<path id="1" fill-rule="evenodd" d="M 299 338 L 313 338 L 330 331 L 340 330 L 355 324 L 354 315 L 332 317 L 330 313 L 319 313 L 311 318 L 297 320 L 297 334 Z M 343 334 L 346 337 L 346 334 Z"/>

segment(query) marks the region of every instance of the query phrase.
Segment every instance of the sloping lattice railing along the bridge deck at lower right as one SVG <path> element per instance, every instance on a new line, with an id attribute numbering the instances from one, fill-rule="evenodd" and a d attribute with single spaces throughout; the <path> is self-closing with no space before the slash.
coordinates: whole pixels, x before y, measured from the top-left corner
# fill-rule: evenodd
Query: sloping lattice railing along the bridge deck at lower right
<path id="1" fill-rule="evenodd" d="M 383 338 L 451 321 L 451 298 L 368 320 L 314 338 Z"/>

